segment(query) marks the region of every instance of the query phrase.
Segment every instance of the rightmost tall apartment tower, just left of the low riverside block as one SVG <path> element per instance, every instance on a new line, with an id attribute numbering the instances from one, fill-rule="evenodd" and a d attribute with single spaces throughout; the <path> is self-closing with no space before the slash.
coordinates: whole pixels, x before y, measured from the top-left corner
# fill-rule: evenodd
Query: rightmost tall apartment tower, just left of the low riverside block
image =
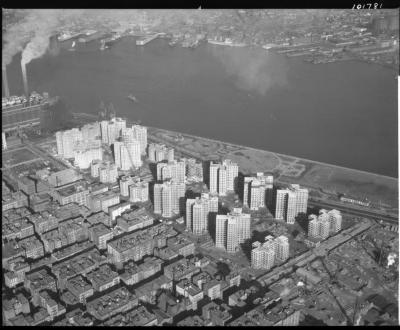
<path id="1" fill-rule="evenodd" d="M 298 184 L 291 184 L 286 189 L 278 189 L 275 200 L 275 218 L 294 224 L 299 213 L 307 213 L 307 203 L 308 190 L 300 188 Z"/>

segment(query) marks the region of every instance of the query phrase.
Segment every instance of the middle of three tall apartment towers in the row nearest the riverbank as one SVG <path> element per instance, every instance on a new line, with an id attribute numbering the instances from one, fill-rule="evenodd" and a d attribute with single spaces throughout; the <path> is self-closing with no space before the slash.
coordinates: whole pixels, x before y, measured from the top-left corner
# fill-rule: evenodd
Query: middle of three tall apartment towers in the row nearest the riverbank
<path id="1" fill-rule="evenodd" d="M 256 176 L 245 177 L 243 186 L 243 204 L 251 210 L 271 206 L 274 178 L 272 175 L 257 173 Z"/>

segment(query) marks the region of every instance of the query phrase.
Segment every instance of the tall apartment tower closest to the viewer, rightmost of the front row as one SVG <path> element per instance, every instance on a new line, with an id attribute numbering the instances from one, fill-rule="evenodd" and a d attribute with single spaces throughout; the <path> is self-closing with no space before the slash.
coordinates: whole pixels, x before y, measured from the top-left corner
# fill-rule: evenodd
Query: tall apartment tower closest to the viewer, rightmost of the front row
<path id="1" fill-rule="evenodd" d="M 234 208 L 227 215 L 218 214 L 215 224 L 215 244 L 229 253 L 234 253 L 250 234 L 250 214 Z"/>

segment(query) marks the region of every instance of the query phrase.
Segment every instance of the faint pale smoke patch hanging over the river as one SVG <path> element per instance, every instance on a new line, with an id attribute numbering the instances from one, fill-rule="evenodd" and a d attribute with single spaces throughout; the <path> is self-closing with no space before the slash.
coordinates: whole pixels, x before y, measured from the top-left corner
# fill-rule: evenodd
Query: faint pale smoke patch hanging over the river
<path id="1" fill-rule="evenodd" d="M 260 50 L 216 46 L 212 54 L 222 62 L 225 70 L 235 79 L 236 86 L 261 95 L 274 86 L 287 84 L 284 60 L 273 61 L 273 55 Z"/>

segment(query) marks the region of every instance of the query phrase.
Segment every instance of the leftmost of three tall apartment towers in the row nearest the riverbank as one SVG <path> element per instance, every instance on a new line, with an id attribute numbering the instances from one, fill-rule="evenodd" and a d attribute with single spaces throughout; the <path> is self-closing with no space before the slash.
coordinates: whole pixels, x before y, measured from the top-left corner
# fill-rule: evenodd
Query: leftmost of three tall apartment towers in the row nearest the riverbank
<path id="1" fill-rule="evenodd" d="M 239 174 L 239 167 L 230 159 L 220 163 L 210 164 L 210 193 L 225 196 L 228 191 L 235 191 L 235 185 Z"/>

